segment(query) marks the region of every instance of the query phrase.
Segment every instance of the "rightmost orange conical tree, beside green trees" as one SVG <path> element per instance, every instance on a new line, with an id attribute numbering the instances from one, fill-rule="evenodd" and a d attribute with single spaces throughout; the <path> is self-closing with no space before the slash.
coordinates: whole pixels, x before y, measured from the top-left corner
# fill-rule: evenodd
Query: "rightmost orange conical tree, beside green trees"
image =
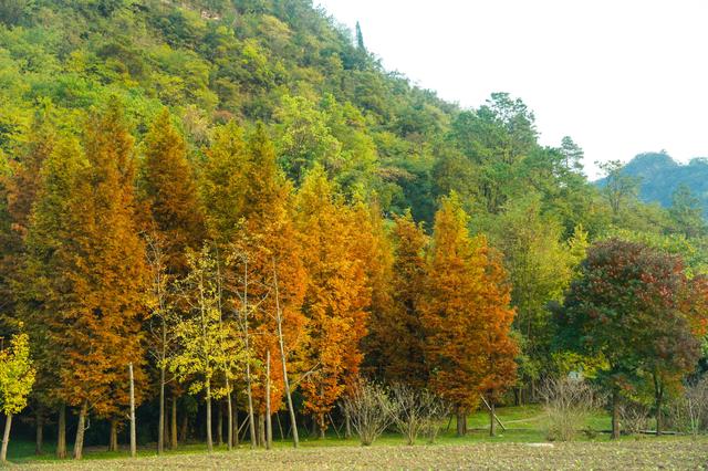
<path id="1" fill-rule="evenodd" d="M 458 433 L 480 395 L 496 395 L 514 379 L 513 311 L 497 255 L 469 236 L 457 196 L 440 201 L 428 255 L 425 301 L 426 360 L 430 387 L 455 405 Z"/>

